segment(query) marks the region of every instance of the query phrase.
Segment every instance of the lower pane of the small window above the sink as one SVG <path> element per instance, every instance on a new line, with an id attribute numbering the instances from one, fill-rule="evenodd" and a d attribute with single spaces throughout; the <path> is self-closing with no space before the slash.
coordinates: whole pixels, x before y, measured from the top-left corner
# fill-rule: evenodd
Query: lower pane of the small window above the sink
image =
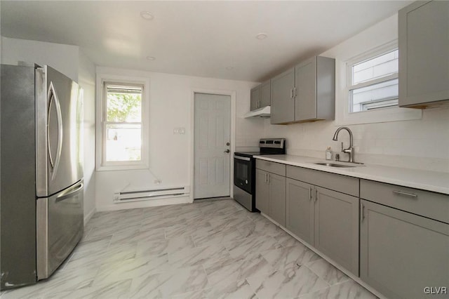
<path id="1" fill-rule="evenodd" d="M 349 91 L 349 97 L 350 112 L 397 106 L 398 79 L 353 89 Z"/>

